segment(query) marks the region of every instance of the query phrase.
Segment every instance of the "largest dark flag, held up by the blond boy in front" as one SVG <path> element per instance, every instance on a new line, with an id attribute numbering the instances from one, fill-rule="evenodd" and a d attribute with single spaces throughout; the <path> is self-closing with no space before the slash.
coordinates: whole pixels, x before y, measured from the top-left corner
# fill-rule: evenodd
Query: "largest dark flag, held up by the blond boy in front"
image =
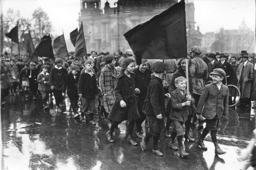
<path id="1" fill-rule="evenodd" d="M 124 34 L 138 64 L 143 59 L 187 57 L 185 1 L 181 0 Z"/>

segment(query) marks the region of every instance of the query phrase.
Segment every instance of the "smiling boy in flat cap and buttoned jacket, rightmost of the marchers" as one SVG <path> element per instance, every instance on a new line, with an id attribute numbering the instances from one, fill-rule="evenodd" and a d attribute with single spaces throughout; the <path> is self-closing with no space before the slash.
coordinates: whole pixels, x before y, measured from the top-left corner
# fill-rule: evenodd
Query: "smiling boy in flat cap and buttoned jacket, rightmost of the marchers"
<path id="1" fill-rule="evenodd" d="M 226 76 L 226 73 L 221 68 L 215 68 L 212 73 L 212 83 L 205 86 L 203 94 L 197 105 L 196 117 L 199 118 L 202 110 L 203 117 L 206 118 L 206 127 L 202 135 L 197 141 L 197 145 L 202 149 L 207 149 L 204 145 L 204 138 L 211 131 L 212 142 L 215 146 L 215 154 L 224 154 L 217 143 L 217 129 L 220 118 L 225 118 L 228 115 L 228 87 L 221 81 Z M 204 109 L 203 109 L 204 107 Z"/>

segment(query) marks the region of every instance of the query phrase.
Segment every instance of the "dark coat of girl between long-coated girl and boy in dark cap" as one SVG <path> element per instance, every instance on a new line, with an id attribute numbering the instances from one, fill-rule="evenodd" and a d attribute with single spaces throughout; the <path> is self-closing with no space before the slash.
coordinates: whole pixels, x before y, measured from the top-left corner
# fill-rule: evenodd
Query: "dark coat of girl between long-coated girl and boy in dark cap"
<path id="1" fill-rule="evenodd" d="M 148 92 L 148 85 L 151 80 L 151 71 L 146 69 L 144 73 L 140 71 L 140 68 L 134 70 L 135 73 L 135 89 L 140 90 L 140 94 L 136 94 L 140 99 L 146 99 Z"/>

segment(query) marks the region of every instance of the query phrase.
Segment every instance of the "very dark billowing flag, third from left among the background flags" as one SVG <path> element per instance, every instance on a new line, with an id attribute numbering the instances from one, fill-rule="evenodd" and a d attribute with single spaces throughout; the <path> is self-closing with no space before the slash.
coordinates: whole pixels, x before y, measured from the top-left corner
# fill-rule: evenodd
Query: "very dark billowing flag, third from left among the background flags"
<path id="1" fill-rule="evenodd" d="M 49 35 L 45 35 L 41 38 L 41 41 L 36 46 L 35 55 L 40 57 L 48 57 L 54 60 L 54 54 L 52 50 L 52 39 Z"/>

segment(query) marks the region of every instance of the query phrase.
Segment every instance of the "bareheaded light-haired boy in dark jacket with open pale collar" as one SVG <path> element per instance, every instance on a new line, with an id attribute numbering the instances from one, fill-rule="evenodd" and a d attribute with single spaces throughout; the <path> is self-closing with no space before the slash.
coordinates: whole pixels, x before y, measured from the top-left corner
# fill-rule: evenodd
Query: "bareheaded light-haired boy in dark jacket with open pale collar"
<path id="1" fill-rule="evenodd" d="M 95 109 L 95 96 L 98 93 L 98 87 L 96 83 L 95 74 L 92 72 L 93 63 L 91 60 L 85 62 L 85 70 L 81 72 L 77 88 L 78 96 L 82 97 L 82 108 L 81 108 L 81 121 L 85 123 L 84 114 L 90 108 L 89 114 L 86 113 L 86 119 L 90 120 L 90 124 L 95 125 L 93 121 L 94 109 Z"/>

